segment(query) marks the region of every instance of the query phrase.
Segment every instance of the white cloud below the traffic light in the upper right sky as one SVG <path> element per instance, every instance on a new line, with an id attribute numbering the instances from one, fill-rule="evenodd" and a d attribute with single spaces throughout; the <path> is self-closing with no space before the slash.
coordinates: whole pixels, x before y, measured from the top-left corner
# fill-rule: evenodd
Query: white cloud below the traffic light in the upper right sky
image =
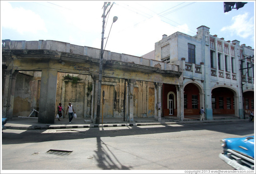
<path id="1" fill-rule="evenodd" d="M 248 19 L 248 13 L 234 16 L 232 22 L 232 25 L 224 26 L 221 31 L 230 32 L 231 36 L 237 35 L 242 38 L 254 36 L 254 20 L 253 17 Z"/>

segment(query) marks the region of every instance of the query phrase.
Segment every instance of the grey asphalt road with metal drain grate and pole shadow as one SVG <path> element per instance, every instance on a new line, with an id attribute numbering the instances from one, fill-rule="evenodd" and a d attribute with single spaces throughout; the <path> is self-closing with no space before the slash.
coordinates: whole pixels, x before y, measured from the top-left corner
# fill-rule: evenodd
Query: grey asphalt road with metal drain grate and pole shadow
<path id="1" fill-rule="evenodd" d="M 254 135 L 254 123 L 247 121 L 62 130 L 8 129 L 2 134 L 2 172 L 233 170 L 218 158 L 222 152 L 220 140 L 250 135 Z M 47 154 L 51 149 L 72 152 L 69 155 Z"/>

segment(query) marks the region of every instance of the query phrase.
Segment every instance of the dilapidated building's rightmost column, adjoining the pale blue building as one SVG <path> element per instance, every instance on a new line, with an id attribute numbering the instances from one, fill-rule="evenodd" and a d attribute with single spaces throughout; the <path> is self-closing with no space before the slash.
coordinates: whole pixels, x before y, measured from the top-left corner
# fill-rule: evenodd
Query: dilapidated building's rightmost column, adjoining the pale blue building
<path id="1" fill-rule="evenodd" d="M 184 95 L 183 85 L 176 85 L 177 89 L 177 119 L 184 120 Z"/>

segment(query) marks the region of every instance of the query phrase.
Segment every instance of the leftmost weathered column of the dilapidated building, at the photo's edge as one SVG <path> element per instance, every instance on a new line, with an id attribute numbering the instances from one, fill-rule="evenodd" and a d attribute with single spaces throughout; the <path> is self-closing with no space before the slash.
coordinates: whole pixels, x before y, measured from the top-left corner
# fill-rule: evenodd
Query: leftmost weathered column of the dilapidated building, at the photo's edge
<path id="1" fill-rule="evenodd" d="M 13 70 L 5 70 L 4 76 L 4 94 L 2 104 L 2 117 L 12 120 L 15 83 L 18 71 L 13 73 Z"/>

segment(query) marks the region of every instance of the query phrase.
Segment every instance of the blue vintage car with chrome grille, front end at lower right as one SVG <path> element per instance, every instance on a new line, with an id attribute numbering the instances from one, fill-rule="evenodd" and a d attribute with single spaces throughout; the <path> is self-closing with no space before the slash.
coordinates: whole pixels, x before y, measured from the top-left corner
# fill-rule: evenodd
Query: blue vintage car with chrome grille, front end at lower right
<path id="1" fill-rule="evenodd" d="M 254 136 L 221 140 L 219 158 L 237 170 L 254 170 Z"/>

